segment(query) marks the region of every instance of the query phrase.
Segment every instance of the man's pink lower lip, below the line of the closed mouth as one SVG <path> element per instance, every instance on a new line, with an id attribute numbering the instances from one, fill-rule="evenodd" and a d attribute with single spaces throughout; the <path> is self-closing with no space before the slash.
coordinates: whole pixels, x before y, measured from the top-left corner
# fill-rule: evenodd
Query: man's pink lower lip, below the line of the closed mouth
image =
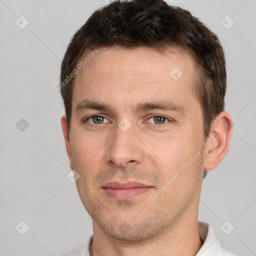
<path id="1" fill-rule="evenodd" d="M 112 198 L 119 199 L 119 200 L 127 200 L 132 199 L 140 194 L 143 194 L 150 190 L 152 187 L 133 187 L 133 188 L 126 188 L 126 189 L 115 189 L 115 188 L 104 188 L 107 195 Z"/>

